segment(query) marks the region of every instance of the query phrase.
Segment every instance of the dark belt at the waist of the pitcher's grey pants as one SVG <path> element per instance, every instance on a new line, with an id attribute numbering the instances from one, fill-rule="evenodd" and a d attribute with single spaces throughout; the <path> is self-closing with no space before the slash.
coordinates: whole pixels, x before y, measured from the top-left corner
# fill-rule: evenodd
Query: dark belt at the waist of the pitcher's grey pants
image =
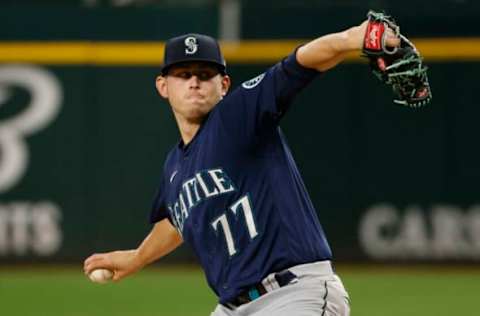
<path id="1" fill-rule="evenodd" d="M 255 284 L 247 290 L 242 291 L 237 297 L 224 305 L 229 308 L 236 308 L 256 300 L 268 292 L 281 288 L 296 279 L 297 276 L 289 270 L 273 273 L 263 279 L 261 283 Z"/>

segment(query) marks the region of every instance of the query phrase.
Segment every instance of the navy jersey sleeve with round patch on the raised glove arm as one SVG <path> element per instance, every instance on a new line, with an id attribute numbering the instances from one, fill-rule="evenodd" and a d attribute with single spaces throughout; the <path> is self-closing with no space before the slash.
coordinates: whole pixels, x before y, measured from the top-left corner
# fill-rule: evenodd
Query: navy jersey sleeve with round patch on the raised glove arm
<path id="1" fill-rule="evenodd" d="M 218 106 L 224 130 L 235 141 L 276 128 L 294 97 L 318 74 L 300 65 L 295 51 L 225 97 Z"/>

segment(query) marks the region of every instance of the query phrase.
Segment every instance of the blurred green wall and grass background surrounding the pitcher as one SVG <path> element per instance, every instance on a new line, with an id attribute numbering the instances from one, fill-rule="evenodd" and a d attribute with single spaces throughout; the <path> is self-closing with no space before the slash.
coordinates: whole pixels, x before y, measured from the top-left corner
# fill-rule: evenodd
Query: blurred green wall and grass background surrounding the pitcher
<path id="1" fill-rule="evenodd" d="M 187 247 L 118 285 L 82 275 L 91 253 L 136 247 L 150 230 L 179 137 L 154 88 L 165 40 L 219 38 L 236 86 L 369 9 L 422 52 L 432 103 L 394 105 L 351 55 L 282 128 L 354 315 L 479 315 L 473 0 L 1 0 L 0 314 L 208 315 L 215 297 Z"/>

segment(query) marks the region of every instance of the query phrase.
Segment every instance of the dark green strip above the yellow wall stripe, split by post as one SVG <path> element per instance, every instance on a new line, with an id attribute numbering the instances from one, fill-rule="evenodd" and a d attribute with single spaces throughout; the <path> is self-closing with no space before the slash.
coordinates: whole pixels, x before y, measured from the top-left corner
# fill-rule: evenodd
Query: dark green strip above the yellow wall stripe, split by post
<path id="1" fill-rule="evenodd" d="M 171 0 L 163 5 L 162 1 L 141 5 L 135 2 L 148 1 L 131 0 L 130 6 L 122 7 L 109 6 L 113 0 L 84 0 L 87 1 L 99 5 L 90 7 L 81 1 L 62 0 L 2 1 L 0 39 L 159 40 L 192 31 L 220 34 L 218 3 L 221 1 L 195 5 L 195 1 Z M 395 16 L 409 36 L 480 36 L 480 3 L 474 0 L 242 0 L 240 3 L 239 35 L 243 39 L 311 38 L 337 32 L 362 21 L 370 9 L 385 10 Z"/>

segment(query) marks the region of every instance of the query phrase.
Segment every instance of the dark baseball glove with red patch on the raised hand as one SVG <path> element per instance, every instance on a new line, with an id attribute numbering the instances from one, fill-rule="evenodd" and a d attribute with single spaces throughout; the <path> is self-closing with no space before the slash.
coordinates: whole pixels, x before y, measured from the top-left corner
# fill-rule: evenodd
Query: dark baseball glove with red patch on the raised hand
<path id="1" fill-rule="evenodd" d="M 423 64 L 418 50 L 400 33 L 399 26 L 390 16 L 370 11 L 367 17 L 363 53 L 369 59 L 375 76 L 392 87 L 395 94 L 393 102 L 412 108 L 428 104 L 432 99 L 428 68 Z M 400 38 L 399 47 L 386 45 L 387 28 Z"/>

